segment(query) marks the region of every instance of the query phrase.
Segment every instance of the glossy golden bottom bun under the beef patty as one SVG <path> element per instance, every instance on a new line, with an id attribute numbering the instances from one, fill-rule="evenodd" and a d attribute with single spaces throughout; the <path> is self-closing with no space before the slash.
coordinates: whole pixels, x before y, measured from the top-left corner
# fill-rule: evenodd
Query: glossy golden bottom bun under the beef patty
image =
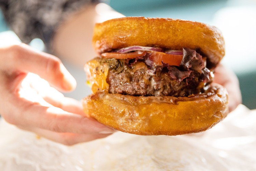
<path id="1" fill-rule="evenodd" d="M 205 131 L 228 114 L 224 87 L 188 97 L 130 96 L 98 92 L 83 100 L 84 112 L 116 130 L 138 135 L 169 135 Z"/>

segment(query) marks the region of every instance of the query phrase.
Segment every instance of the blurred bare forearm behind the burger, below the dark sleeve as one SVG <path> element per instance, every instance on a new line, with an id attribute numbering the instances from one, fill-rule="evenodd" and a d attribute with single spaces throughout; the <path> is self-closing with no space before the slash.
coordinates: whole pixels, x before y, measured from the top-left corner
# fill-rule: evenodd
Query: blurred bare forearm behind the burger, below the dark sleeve
<path id="1" fill-rule="evenodd" d="M 66 19 L 56 30 L 52 50 L 61 59 L 83 67 L 84 63 L 96 56 L 91 45 L 96 22 L 122 17 L 106 4 L 91 4 Z"/>

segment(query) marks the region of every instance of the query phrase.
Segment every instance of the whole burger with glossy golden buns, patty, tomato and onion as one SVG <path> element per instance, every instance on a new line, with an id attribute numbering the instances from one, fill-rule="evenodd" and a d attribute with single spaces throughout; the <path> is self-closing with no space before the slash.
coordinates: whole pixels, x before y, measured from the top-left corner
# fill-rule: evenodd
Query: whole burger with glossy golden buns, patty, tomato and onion
<path id="1" fill-rule="evenodd" d="M 214 26 L 171 18 L 123 17 L 98 23 L 99 54 L 85 65 L 92 94 L 84 112 L 139 135 L 205 131 L 228 114 L 228 95 L 213 83 L 225 54 Z"/>

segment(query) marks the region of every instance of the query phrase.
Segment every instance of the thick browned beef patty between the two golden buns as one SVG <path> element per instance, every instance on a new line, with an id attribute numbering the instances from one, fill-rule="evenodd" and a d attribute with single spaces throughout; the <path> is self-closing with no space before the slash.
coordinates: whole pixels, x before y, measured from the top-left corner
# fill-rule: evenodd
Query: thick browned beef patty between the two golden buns
<path id="1" fill-rule="evenodd" d="M 109 72 L 107 83 L 109 93 L 120 93 L 132 96 L 174 96 L 184 97 L 202 92 L 205 84 L 200 73 L 194 71 L 193 79 L 181 82 L 173 79 L 164 67 L 156 70 L 149 68 L 144 62 L 136 62 L 129 66 L 124 59 L 98 58 L 100 63 L 107 63 Z"/>

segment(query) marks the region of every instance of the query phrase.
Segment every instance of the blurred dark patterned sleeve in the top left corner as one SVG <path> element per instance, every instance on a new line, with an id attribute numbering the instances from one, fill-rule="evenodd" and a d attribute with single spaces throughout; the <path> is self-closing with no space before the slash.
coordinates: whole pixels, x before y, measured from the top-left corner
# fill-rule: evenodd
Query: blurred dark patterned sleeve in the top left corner
<path id="1" fill-rule="evenodd" d="M 97 0 L 0 0 L 9 27 L 21 41 L 40 38 L 49 46 L 55 29 L 70 13 Z"/>

